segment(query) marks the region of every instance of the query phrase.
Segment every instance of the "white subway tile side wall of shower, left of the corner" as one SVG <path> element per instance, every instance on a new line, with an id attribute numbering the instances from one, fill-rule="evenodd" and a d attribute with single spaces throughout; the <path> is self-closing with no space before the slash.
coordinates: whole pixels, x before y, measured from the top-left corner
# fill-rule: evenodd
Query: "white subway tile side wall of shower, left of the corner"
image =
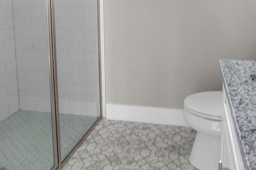
<path id="1" fill-rule="evenodd" d="M 0 121 L 18 109 L 12 1 L 0 0 Z"/>

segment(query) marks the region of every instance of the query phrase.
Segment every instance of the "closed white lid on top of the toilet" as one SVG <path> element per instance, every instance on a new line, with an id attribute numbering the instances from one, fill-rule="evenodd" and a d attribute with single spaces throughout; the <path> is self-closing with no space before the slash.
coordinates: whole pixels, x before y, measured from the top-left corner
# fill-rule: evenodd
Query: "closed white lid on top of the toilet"
<path id="1" fill-rule="evenodd" d="M 208 91 L 191 94 L 184 100 L 184 108 L 192 110 L 194 114 L 206 117 L 221 117 L 222 91 Z"/>

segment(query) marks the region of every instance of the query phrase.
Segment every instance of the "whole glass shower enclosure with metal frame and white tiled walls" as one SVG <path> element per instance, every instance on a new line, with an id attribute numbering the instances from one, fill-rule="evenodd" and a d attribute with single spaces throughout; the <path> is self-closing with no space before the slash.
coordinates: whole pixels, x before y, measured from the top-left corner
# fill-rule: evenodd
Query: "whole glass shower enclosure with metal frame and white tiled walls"
<path id="1" fill-rule="evenodd" d="M 99 0 L 0 0 L 0 169 L 60 169 L 102 117 Z"/>

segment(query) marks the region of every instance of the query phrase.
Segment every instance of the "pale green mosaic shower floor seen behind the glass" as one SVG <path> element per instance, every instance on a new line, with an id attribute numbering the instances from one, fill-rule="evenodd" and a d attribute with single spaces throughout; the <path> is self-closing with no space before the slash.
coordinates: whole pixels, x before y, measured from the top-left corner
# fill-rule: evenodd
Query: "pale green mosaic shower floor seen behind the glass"
<path id="1" fill-rule="evenodd" d="M 62 158 L 98 117 L 60 114 Z M 0 122 L 0 168 L 50 170 L 53 166 L 50 113 L 19 110 Z"/>

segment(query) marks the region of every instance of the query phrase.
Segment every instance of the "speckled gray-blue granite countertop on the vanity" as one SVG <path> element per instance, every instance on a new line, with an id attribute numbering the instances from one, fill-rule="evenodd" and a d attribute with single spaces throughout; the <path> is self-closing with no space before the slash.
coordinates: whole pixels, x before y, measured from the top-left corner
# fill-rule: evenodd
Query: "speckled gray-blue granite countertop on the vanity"
<path id="1" fill-rule="evenodd" d="M 256 61 L 221 59 L 222 79 L 246 170 L 256 170 Z"/>

